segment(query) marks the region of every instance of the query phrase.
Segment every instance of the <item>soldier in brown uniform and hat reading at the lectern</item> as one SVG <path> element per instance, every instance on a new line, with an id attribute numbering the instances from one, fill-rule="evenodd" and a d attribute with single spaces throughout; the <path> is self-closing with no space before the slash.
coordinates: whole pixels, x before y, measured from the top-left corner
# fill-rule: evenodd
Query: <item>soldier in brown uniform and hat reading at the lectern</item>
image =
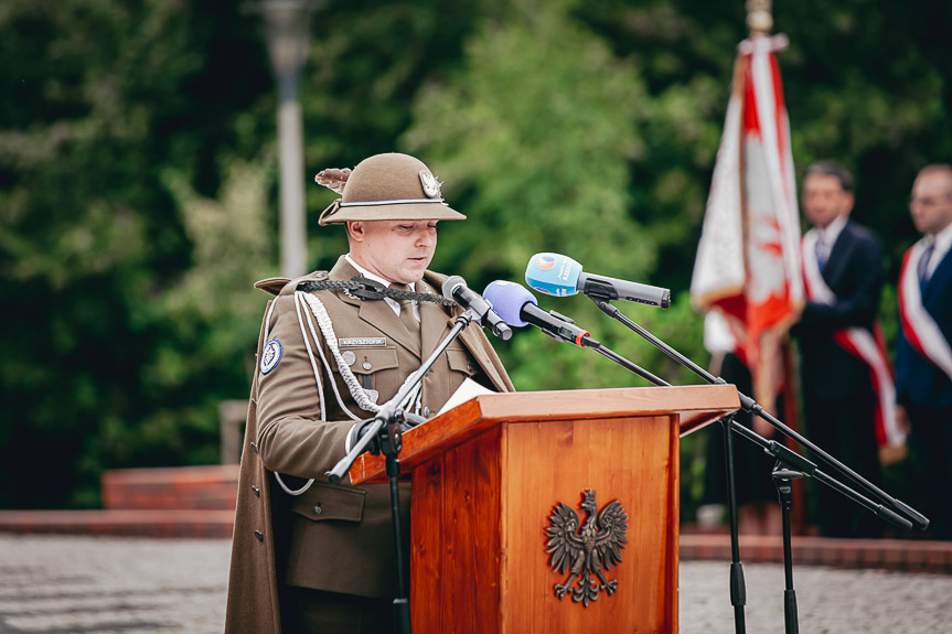
<path id="1" fill-rule="evenodd" d="M 320 224 L 346 224 L 350 252 L 330 272 L 256 284 L 276 297 L 261 324 L 248 405 L 229 633 L 393 630 L 398 572 L 388 486 L 333 485 L 324 473 L 356 440 L 360 421 L 399 390 L 462 312 L 446 305 L 437 291 L 446 278 L 427 266 L 437 222 L 466 216 L 443 203 L 422 162 L 378 154 L 353 171 L 325 170 L 318 182 L 342 194 Z M 405 287 L 361 299 L 340 288 L 355 279 L 388 291 Z M 405 406 L 429 418 L 468 378 L 513 390 L 478 325 L 450 344 Z M 400 504 L 402 534 L 409 536 L 406 484 Z"/>

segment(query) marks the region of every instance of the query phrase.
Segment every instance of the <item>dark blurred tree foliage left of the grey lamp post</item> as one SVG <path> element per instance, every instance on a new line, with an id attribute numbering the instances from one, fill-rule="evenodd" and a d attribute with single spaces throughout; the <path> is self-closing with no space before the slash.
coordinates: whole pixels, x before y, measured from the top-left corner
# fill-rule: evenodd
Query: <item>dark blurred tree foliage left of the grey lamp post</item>
<path id="1" fill-rule="evenodd" d="M 0 463 L 18 482 L 0 506 L 88 505 L 104 466 L 215 460 L 216 401 L 256 333 L 232 291 L 272 243 L 245 251 L 242 209 L 194 200 L 266 211 L 264 176 L 255 196 L 232 184 L 263 170 L 231 164 L 261 152 L 245 109 L 270 77 L 248 42 L 231 2 L 0 8 Z"/>

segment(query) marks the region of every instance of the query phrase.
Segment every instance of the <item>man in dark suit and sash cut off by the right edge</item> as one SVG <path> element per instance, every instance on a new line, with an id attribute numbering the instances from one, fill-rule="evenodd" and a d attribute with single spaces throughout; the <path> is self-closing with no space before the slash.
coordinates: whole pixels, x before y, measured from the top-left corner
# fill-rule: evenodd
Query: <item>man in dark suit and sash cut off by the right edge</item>
<path id="1" fill-rule="evenodd" d="M 928 165 L 909 211 L 922 239 L 902 259 L 897 398 L 931 533 L 952 539 L 952 165 Z"/>

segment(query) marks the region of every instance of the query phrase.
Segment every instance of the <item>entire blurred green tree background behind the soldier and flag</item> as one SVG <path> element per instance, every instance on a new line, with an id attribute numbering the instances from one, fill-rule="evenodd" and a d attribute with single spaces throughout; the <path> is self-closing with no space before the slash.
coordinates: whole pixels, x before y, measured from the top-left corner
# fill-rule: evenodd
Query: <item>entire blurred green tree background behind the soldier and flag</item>
<path id="1" fill-rule="evenodd" d="M 414 153 L 470 217 L 441 226 L 435 269 L 481 289 L 553 250 L 668 287 L 668 311 L 620 308 L 707 363 L 687 288 L 742 0 L 323 4 L 301 84 L 309 175 Z M 895 286 L 912 178 L 952 160 L 952 7 L 773 11 L 798 174 L 819 158 L 854 171 L 854 217 Z M 225 0 L 4 0 L 0 58 L 0 507 L 95 506 L 105 469 L 217 462 L 217 405 L 254 365 L 252 284 L 280 272 L 259 18 Z M 329 268 L 346 248 L 317 225 L 334 195 L 307 196 L 309 265 Z M 699 383 L 585 298 L 541 303 Z M 537 331 L 494 343 L 520 389 L 644 385 Z M 685 509 L 702 441 L 683 443 Z"/>

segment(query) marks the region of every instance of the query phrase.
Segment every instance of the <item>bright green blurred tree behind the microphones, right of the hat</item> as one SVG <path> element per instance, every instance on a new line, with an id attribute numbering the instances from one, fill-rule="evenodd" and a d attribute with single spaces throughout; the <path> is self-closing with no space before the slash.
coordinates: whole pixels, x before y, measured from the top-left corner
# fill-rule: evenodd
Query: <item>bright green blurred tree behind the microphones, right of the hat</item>
<path id="1" fill-rule="evenodd" d="M 523 281 L 530 257 L 545 250 L 632 279 L 648 279 L 654 265 L 655 227 L 631 213 L 630 195 L 630 164 L 643 158 L 638 126 L 653 99 L 638 69 L 558 10 L 563 4 L 485 20 L 459 71 L 419 94 L 404 137 L 439 165 L 445 195 L 470 216 L 441 226 L 438 265 L 475 288 L 495 278 Z M 607 323 L 585 298 L 543 301 L 597 327 L 619 353 L 638 350 L 638 335 Z M 498 348 L 520 389 L 644 385 L 538 331 Z M 655 372 L 663 366 L 660 353 L 642 350 L 640 358 Z"/>

